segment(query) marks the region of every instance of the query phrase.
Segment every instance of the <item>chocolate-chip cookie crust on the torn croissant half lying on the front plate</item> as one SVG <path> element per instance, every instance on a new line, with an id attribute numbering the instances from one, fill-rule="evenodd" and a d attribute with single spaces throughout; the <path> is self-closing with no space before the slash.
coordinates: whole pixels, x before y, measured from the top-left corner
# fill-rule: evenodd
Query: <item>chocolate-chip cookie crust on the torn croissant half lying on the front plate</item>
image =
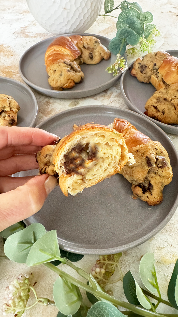
<path id="1" fill-rule="evenodd" d="M 134 196 L 150 206 L 163 200 L 163 188 L 172 180 L 172 168 L 167 151 L 157 141 L 132 148 L 136 163 L 126 165 L 119 172 L 130 183 Z"/>

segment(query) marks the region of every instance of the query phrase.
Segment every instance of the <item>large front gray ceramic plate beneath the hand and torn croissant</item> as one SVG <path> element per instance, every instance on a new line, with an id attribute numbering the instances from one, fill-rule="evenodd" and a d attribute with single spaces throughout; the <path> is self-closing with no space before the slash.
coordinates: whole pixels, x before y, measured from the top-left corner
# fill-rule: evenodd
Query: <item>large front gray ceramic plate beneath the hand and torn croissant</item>
<path id="1" fill-rule="evenodd" d="M 119 174 L 76 196 L 65 197 L 57 186 L 45 204 L 26 224 L 42 223 L 57 229 L 61 249 L 81 254 L 112 254 L 133 248 L 155 235 L 173 216 L 178 205 L 178 155 L 168 136 L 153 122 L 130 110 L 109 106 L 84 106 L 59 113 L 38 125 L 61 138 L 73 124 L 110 124 L 125 118 L 169 153 L 174 177 L 163 190 L 163 203 L 154 207 L 133 199 L 131 184 Z M 170 195 L 171 193 L 171 195 Z"/>

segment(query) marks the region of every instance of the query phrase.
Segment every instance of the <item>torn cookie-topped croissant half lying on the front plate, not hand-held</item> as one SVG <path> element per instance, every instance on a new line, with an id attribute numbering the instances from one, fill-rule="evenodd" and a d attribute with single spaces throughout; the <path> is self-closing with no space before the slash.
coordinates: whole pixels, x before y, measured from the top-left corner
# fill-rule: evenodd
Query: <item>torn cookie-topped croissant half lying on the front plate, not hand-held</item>
<path id="1" fill-rule="evenodd" d="M 172 180 L 169 155 L 161 143 L 152 141 L 124 119 L 115 118 L 113 128 L 123 137 L 135 163 L 123 166 L 119 171 L 131 184 L 134 196 L 150 206 L 163 200 L 163 188 Z"/>

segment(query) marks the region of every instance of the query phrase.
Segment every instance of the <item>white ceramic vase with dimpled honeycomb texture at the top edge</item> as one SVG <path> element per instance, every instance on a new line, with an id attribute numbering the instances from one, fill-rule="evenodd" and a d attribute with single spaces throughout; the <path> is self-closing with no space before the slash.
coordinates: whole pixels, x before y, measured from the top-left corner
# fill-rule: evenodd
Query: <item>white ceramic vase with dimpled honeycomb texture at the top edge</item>
<path id="1" fill-rule="evenodd" d="M 27 0 L 35 20 L 53 34 L 83 33 L 95 22 L 103 0 Z"/>

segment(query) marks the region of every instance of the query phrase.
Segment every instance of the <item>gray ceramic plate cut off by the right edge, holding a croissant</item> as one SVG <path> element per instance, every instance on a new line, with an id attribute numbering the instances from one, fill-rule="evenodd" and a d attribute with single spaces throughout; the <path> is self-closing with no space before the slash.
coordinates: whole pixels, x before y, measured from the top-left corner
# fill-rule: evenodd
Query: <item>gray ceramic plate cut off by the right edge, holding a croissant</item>
<path id="1" fill-rule="evenodd" d="M 178 57 L 178 51 L 166 51 L 170 55 Z M 129 65 L 129 68 L 124 72 L 121 77 L 120 87 L 121 92 L 126 101 L 127 106 L 129 109 L 136 111 L 142 114 L 144 117 L 148 118 L 149 120 L 155 122 L 163 131 L 178 134 L 178 125 L 175 124 L 165 124 L 159 122 L 155 119 L 149 118 L 144 114 L 145 112 L 145 103 L 146 101 L 152 96 L 152 94 L 156 91 L 156 89 L 151 84 L 145 84 L 143 82 L 139 82 L 136 77 L 130 75 L 132 70 L 132 65 Z"/>

